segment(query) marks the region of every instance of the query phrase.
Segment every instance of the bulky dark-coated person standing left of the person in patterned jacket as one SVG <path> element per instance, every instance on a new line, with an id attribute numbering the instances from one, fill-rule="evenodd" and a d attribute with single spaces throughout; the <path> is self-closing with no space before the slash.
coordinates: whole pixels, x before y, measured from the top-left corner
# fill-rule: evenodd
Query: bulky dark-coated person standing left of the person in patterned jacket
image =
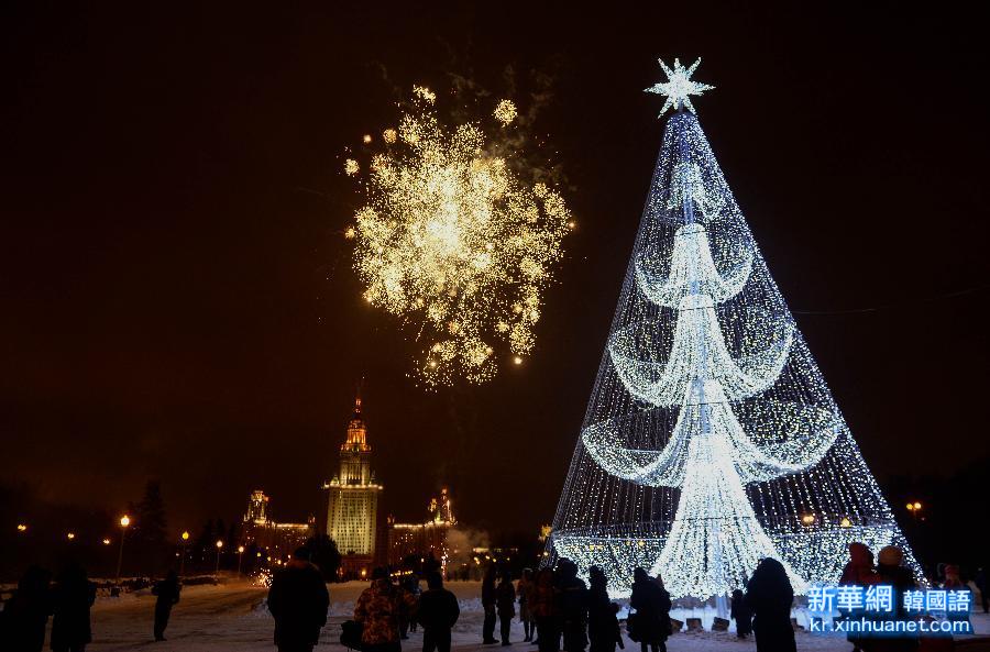
<path id="1" fill-rule="evenodd" d="M 309 559 L 309 549 L 294 552 L 268 589 L 268 611 L 275 618 L 278 652 L 310 652 L 327 625 L 330 592 Z"/>

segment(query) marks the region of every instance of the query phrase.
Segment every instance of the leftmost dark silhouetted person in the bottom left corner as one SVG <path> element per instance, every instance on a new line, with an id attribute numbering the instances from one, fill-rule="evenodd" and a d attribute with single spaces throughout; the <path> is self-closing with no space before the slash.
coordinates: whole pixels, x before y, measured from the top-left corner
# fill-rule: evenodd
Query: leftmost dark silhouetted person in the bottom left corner
<path id="1" fill-rule="evenodd" d="M 41 652 L 52 615 L 52 574 L 31 566 L 0 611 L 0 649 Z"/>

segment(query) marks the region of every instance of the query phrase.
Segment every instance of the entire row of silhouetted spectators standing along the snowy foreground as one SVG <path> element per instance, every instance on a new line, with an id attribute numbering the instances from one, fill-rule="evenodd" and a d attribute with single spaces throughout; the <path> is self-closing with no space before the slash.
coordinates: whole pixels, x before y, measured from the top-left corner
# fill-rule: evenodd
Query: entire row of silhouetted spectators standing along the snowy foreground
<path id="1" fill-rule="evenodd" d="M 965 586 L 957 566 L 941 565 L 938 573 L 938 586 Z M 482 643 L 512 645 L 512 625 L 518 617 L 524 632 L 521 642 L 537 645 L 538 652 L 624 649 L 620 606 L 609 598 L 608 578 L 597 566 L 588 568 L 587 578 L 585 584 L 579 576 L 578 565 L 566 559 L 552 567 L 526 568 L 515 582 L 508 570 L 488 567 L 481 587 Z M 451 631 L 460 616 L 458 599 L 444 588 L 437 568 L 428 568 L 425 579 L 427 588 L 420 590 L 420 581 L 415 575 L 406 574 L 395 583 L 388 570 L 376 568 L 370 586 L 354 605 L 353 619 L 342 626 L 341 643 L 361 652 L 400 652 L 408 632 L 422 628 L 424 652 L 450 652 Z M 862 543 L 850 544 L 849 560 L 839 582 L 859 586 L 892 585 L 899 594 L 916 586 L 912 571 L 904 565 L 901 549 L 883 548 L 875 562 L 872 552 Z M 983 594 L 986 611 L 987 577 L 982 571 L 976 582 Z M 630 588 L 627 637 L 639 643 L 640 652 L 666 652 L 673 621 L 671 596 L 662 577 L 635 568 Z M 156 641 L 165 640 L 169 615 L 180 593 L 182 584 L 175 572 L 154 585 Z M 52 650 L 84 652 L 92 639 L 90 608 L 95 598 L 96 585 L 78 565 L 66 566 L 54 583 L 43 568 L 29 568 L 0 612 L 0 649 L 41 651 L 52 617 Z M 327 625 L 329 606 L 330 595 L 322 574 L 310 562 L 306 548 L 297 550 L 275 574 L 268 590 L 267 608 L 275 620 L 275 644 L 279 652 L 311 652 Z M 793 606 L 794 590 L 783 564 L 773 559 L 761 560 L 745 586 L 733 592 L 730 618 L 736 622 L 736 636 L 754 636 L 758 652 L 794 651 Z M 891 617 L 904 617 L 902 610 L 899 604 Z M 851 633 L 848 640 L 854 651 L 865 652 L 914 650 L 919 643 L 912 639 L 866 639 Z"/>

